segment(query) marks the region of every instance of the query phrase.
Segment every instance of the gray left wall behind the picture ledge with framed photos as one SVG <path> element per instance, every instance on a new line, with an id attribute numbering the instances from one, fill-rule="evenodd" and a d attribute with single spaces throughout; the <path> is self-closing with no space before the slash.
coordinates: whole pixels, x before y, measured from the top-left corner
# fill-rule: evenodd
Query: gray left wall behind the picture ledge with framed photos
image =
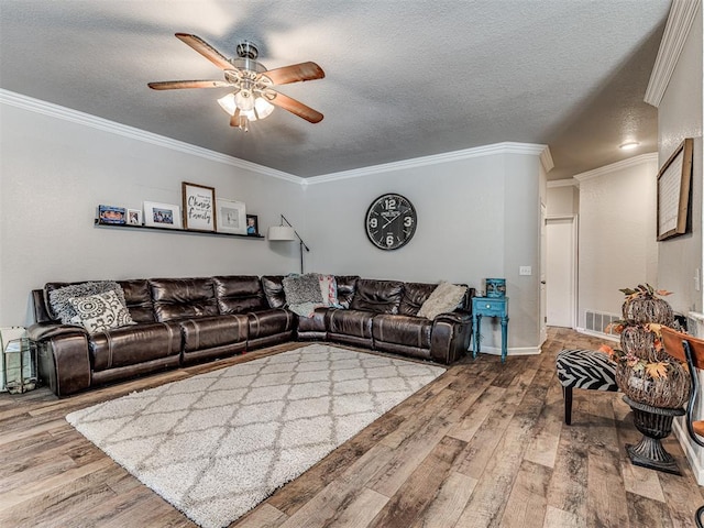
<path id="1" fill-rule="evenodd" d="M 30 290 L 50 280 L 298 271 L 296 244 L 94 226 L 99 204 L 180 205 L 182 182 L 194 182 L 244 201 L 265 233 L 279 212 L 302 222 L 298 183 L 143 141 L 139 131 L 125 136 L 10 105 L 0 111 L 0 327 L 33 322 Z"/>

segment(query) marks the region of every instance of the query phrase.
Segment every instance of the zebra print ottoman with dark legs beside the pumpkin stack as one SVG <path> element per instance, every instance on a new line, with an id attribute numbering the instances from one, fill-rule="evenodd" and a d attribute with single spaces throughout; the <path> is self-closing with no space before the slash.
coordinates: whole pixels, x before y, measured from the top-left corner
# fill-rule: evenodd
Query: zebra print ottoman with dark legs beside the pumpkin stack
<path id="1" fill-rule="evenodd" d="M 564 422 L 572 422 L 572 389 L 618 391 L 616 365 L 596 350 L 563 350 L 556 360 L 564 396 Z"/>

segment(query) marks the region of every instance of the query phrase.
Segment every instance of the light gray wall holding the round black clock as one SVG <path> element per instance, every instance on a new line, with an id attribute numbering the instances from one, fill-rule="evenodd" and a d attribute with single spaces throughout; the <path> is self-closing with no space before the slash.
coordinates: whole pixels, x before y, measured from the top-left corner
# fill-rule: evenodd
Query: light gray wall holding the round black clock
<path id="1" fill-rule="evenodd" d="M 306 187 L 306 241 L 318 272 L 369 278 L 466 283 L 484 289 L 505 277 L 509 296 L 509 349 L 539 346 L 538 154 L 491 154 L 432 165 L 378 167 L 356 177 L 321 178 Z M 404 248 L 382 251 L 369 242 L 364 215 L 385 193 L 415 206 L 418 227 Z M 302 234 L 302 233 L 301 233 Z M 530 265 L 534 275 L 518 275 Z M 483 324 L 483 346 L 498 346 L 499 327 Z"/>

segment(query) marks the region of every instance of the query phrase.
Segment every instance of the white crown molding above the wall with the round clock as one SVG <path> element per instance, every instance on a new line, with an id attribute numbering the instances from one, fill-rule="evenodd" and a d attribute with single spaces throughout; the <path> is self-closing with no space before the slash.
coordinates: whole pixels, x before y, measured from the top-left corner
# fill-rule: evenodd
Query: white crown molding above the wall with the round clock
<path id="1" fill-rule="evenodd" d="M 492 145 L 476 146 L 474 148 L 446 152 L 443 154 L 433 154 L 431 156 L 415 157 L 400 162 L 384 163 L 381 165 L 372 165 L 370 167 L 342 170 L 340 173 L 331 173 L 322 176 L 314 176 L 312 178 L 305 178 L 304 185 L 324 184 L 339 179 L 360 178 L 363 176 L 377 175 L 380 173 L 391 173 L 393 170 L 425 167 L 427 165 L 438 165 L 441 163 L 470 160 L 472 157 L 493 156 L 496 154 L 528 154 L 540 156 L 547 148 L 547 145 L 538 145 L 534 143 L 495 143 Z"/>

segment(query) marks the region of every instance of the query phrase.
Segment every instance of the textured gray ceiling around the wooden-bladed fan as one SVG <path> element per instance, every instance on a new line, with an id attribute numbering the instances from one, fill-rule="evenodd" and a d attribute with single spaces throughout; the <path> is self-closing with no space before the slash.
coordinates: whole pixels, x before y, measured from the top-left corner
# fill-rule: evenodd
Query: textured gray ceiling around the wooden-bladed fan
<path id="1" fill-rule="evenodd" d="M 657 151 L 642 101 L 669 0 L 0 0 L 0 87 L 301 177 L 505 141 L 550 146 L 549 179 Z M 244 133 L 221 79 L 174 36 L 223 55 L 243 40 L 270 69 L 318 63 L 280 87 L 319 110 L 276 109 Z M 626 140 L 641 143 L 628 154 Z"/>

